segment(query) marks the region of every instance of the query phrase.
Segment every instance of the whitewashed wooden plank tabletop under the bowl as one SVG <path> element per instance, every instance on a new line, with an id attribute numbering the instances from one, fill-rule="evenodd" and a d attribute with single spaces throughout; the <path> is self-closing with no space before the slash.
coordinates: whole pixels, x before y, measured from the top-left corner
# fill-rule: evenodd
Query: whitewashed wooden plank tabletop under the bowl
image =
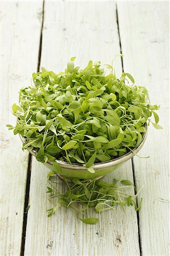
<path id="1" fill-rule="evenodd" d="M 168 90 L 169 3 L 114 1 L 2 1 L 1 3 L 1 253 L 0 255 L 169 255 Z M 118 208 L 99 215 L 97 225 L 72 212 L 46 210 L 48 170 L 22 151 L 11 105 L 39 67 L 59 72 L 72 56 L 111 63 L 150 92 L 160 104 L 163 130 L 150 126 L 138 158 L 105 177 L 129 179 L 143 197 L 139 213 Z M 134 189 L 131 189 L 134 193 Z M 27 206 L 30 209 L 26 212 Z M 89 216 L 95 216 L 89 210 Z"/>

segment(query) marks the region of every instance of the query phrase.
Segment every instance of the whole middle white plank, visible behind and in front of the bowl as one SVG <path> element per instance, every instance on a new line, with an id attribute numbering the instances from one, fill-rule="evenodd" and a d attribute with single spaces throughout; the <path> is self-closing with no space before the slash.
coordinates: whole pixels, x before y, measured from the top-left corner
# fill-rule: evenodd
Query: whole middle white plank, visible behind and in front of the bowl
<path id="1" fill-rule="evenodd" d="M 82 67 L 89 59 L 111 63 L 120 52 L 115 14 L 114 2 L 45 2 L 41 65 L 59 72 L 71 56 Z M 120 59 L 116 69 L 122 72 Z M 134 208 L 102 213 L 96 226 L 83 224 L 65 208 L 47 218 L 47 174 L 33 159 L 25 255 L 139 255 Z M 132 180 L 131 162 L 106 180 L 113 177 Z M 89 210 L 88 216 L 96 213 Z"/>

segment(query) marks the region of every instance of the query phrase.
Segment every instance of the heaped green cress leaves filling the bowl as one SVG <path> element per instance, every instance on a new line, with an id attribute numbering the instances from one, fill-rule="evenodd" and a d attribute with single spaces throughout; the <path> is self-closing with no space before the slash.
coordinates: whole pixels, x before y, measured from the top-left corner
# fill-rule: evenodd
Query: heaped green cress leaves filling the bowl
<path id="1" fill-rule="evenodd" d="M 23 150 L 36 151 L 38 161 L 85 164 L 94 172 L 94 163 L 138 146 L 152 114 L 161 129 L 154 112 L 159 106 L 150 105 L 147 89 L 136 86 L 129 73 L 118 79 L 111 65 L 90 60 L 80 69 L 74 59 L 65 72 L 33 73 L 34 84 L 20 89 L 19 106 L 12 108 L 16 126 L 7 126 L 24 137 Z"/>

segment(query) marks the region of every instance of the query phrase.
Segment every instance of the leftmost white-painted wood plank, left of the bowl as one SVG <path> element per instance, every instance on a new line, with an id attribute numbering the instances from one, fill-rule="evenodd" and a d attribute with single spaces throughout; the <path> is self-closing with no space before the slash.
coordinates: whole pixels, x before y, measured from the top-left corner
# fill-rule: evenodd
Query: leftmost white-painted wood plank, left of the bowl
<path id="1" fill-rule="evenodd" d="M 28 152 L 5 125 L 16 123 L 11 105 L 37 67 L 41 10 L 42 2 L 1 3 L 1 255 L 20 254 Z"/>

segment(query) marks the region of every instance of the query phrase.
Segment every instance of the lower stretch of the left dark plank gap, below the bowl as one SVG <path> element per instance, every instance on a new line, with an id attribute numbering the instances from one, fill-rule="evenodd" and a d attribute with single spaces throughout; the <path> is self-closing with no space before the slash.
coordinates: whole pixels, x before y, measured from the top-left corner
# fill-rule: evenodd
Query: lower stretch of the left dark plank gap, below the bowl
<path id="1" fill-rule="evenodd" d="M 30 194 L 30 179 L 31 179 L 31 164 L 32 164 L 32 155 L 28 156 L 28 171 L 27 171 L 27 183 L 26 183 L 26 193 L 25 193 L 25 202 L 24 202 L 24 214 L 23 214 L 23 228 L 22 228 L 22 242 L 20 249 L 20 256 L 24 255 L 24 247 L 26 240 L 26 228 L 27 228 L 27 213 L 29 205 L 29 194 Z"/>

